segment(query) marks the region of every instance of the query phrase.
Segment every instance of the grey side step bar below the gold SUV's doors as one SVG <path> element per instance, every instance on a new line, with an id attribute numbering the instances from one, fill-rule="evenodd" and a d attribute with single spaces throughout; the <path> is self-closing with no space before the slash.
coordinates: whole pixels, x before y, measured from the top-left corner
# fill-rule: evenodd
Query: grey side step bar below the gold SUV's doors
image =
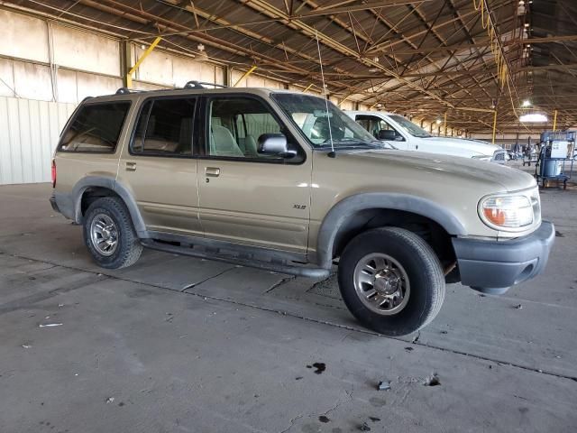
<path id="1" fill-rule="evenodd" d="M 329 269 L 311 268 L 305 265 L 290 265 L 283 263 L 263 262 L 251 258 L 244 258 L 242 256 L 221 255 L 218 253 L 210 253 L 197 248 L 187 246 L 177 246 L 173 244 L 165 244 L 151 239 L 141 239 L 141 244 L 152 250 L 163 251 L 165 253 L 174 253 L 181 255 L 189 255 L 200 259 L 215 260 L 216 262 L 233 263 L 249 268 L 264 269 L 272 272 L 288 273 L 289 275 L 297 275 L 298 277 L 307 278 L 327 278 L 330 275 Z"/>

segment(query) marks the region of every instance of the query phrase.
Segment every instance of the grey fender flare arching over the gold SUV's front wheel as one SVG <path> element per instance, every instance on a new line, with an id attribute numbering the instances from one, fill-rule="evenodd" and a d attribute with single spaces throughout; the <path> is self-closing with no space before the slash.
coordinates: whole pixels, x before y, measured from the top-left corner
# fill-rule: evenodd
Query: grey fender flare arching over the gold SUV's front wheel
<path id="1" fill-rule="evenodd" d="M 447 209 L 426 198 L 408 194 L 368 192 L 357 194 L 339 201 L 326 214 L 318 232 L 316 244 L 317 263 L 323 268 L 330 268 L 333 263 L 334 239 L 339 229 L 363 209 L 383 208 L 404 210 L 432 219 L 442 226 L 449 235 L 466 235 L 461 222 Z"/>

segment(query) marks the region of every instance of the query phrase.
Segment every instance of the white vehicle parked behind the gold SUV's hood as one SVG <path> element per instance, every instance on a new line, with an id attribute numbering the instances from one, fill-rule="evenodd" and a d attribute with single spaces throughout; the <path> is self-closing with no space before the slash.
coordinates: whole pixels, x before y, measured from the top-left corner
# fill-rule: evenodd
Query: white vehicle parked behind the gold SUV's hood
<path id="1" fill-rule="evenodd" d="M 381 111 L 347 111 L 355 122 L 384 142 L 405 151 L 441 153 L 504 164 L 507 152 L 498 145 L 462 138 L 435 137 L 402 115 Z"/>

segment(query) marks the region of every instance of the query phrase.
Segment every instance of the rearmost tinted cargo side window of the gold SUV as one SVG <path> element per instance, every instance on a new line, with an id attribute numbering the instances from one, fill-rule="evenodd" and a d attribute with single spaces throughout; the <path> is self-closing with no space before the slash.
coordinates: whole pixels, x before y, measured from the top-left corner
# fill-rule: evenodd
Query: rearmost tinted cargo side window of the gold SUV
<path id="1" fill-rule="evenodd" d="M 114 153 L 130 102 L 81 106 L 62 134 L 59 151 Z"/>

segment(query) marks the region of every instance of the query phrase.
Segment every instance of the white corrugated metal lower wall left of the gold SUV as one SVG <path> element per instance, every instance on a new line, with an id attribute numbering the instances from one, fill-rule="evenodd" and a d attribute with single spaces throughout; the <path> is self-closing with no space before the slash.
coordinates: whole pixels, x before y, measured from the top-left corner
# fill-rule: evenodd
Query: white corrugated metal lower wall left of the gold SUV
<path id="1" fill-rule="evenodd" d="M 0 97 L 0 185 L 50 181 L 50 158 L 74 107 Z"/>

